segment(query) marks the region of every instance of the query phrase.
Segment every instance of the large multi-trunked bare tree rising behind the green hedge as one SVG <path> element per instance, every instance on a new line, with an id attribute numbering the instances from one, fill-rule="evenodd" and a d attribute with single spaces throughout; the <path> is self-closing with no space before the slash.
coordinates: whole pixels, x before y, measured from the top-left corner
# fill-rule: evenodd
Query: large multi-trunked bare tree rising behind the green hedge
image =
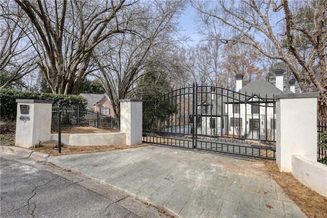
<path id="1" fill-rule="evenodd" d="M 124 33 L 123 11 L 134 2 L 15 1 L 30 20 L 28 37 L 38 67 L 53 93 L 76 94 L 87 74 L 94 49 Z M 108 47 L 110 49 L 110 47 Z"/>

